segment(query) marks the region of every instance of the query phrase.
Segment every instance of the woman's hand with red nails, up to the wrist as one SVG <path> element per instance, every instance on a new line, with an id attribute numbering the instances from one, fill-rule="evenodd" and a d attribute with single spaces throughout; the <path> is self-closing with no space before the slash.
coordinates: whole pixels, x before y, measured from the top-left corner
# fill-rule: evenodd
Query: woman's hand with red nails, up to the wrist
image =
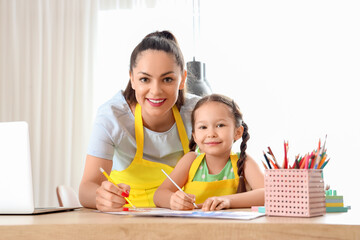
<path id="1" fill-rule="evenodd" d="M 124 197 L 129 196 L 130 186 L 118 184 L 118 188 L 109 181 L 102 182 L 96 190 L 96 208 L 102 212 L 120 212 L 127 203 Z"/>

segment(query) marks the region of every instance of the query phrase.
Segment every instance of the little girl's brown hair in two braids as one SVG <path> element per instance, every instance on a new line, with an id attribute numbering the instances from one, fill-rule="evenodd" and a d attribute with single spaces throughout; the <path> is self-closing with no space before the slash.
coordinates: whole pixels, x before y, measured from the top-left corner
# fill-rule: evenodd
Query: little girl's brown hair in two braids
<path id="1" fill-rule="evenodd" d="M 243 126 L 244 132 L 242 135 L 242 142 L 240 144 L 240 157 L 237 161 L 237 167 L 238 167 L 238 175 L 240 177 L 239 179 L 239 187 L 237 192 L 245 192 L 245 181 L 244 181 L 244 163 L 246 159 L 246 148 L 247 148 L 247 141 L 250 139 L 250 135 L 248 132 L 248 126 L 243 121 L 243 116 L 240 111 L 239 106 L 234 102 L 234 100 L 220 94 L 211 94 L 208 96 L 205 96 L 201 98 L 195 105 L 194 110 L 191 113 L 191 126 L 192 126 L 192 132 L 194 133 L 194 125 L 195 125 L 195 112 L 196 110 L 201 107 L 203 104 L 207 102 L 219 102 L 223 103 L 226 106 L 229 107 L 229 110 L 231 111 L 234 121 L 235 121 L 235 127 Z M 196 143 L 194 141 L 194 137 L 191 136 L 190 142 L 189 142 L 189 148 L 191 151 L 195 151 Z"/>

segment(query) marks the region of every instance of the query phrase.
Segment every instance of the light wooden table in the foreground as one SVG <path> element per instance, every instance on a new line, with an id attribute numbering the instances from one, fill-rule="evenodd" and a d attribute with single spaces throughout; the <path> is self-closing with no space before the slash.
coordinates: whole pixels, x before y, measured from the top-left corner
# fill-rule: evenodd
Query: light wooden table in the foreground
<path id="1" fill-rule="evenodd" d="M 222 220 L 133 217 L 80 209 L 44 215 L 0 215 L 0 239 L 360 239 L 354 210 L 313 218 Z"/>

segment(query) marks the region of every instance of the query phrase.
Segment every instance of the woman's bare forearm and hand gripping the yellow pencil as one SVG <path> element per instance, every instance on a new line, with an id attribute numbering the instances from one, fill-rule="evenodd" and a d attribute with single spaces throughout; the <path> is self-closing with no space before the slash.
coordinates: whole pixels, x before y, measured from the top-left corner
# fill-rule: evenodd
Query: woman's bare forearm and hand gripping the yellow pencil
<path id="1" fill-rule="evenodd" d="M 129 192 L 130 187 L 120 183 L 117 188 L 107 181 L 100 172 L 100 167 L 110 173 L 112 161 L 91 155 L 86 156 L 84 174 L 79 188 L 80 203 L 84 207 L 97 208 L 103 212 L 121 211 L 126 203 L 121 194 Z"/>

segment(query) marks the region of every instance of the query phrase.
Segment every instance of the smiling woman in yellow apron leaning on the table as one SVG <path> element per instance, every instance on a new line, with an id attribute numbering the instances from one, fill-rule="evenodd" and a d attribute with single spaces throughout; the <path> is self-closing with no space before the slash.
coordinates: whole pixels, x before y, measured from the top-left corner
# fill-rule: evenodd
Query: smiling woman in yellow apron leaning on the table
<path id="1" fill-rule="evenodd" d="M 168 31 L 153 32 L 135 47 L 125 91 L 95 119 L 79 190 L 84 207 L 121 211 L 124 197 L 136 207 L 155 206 L 154 192 L 166 178 L 161 169 L 172 171 L 189 151 L 190 115 L 199 98 L 184 94 L 184 65 Z"/>

